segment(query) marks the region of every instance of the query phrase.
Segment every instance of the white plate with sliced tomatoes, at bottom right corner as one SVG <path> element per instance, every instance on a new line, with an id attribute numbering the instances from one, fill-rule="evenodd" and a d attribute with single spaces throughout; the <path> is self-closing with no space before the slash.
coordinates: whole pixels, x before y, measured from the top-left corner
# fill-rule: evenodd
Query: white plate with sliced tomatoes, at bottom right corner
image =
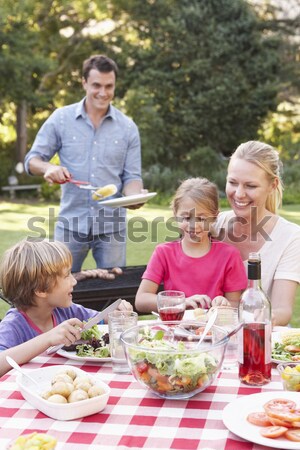
<path id="1" fill-rule="evenodd" d="M 294 392 L 239 397 L 224 408 L 222 419 L 229 431 L 255 444 L 286 450 L 300 448 L 300 400 Z"/>

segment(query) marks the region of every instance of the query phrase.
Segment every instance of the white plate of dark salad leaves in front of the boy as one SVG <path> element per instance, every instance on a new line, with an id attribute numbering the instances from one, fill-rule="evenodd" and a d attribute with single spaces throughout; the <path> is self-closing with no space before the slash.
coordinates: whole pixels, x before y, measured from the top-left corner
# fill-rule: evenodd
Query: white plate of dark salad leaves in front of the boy
<path id="1" fill-rule="evenodd" d="M 82 334 L 82 339 L 77 343 L 75 342 L 71 347 L 72 350 L 67 350 L 66 347 L 63 347 L 57 351 L 57 354 L 75 361 L 109 362 L 111 357 L 107 333 L 107 325 L 94 325 Z"/>

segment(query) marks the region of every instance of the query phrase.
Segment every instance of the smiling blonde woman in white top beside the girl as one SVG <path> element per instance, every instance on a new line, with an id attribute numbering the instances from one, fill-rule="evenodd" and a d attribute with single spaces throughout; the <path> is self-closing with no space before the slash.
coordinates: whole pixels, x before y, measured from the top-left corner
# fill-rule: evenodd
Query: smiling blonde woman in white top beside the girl
<path id="1" fill-rule="evenodd" d="M 219 239 L 234 245 L 246 264 L 250 252 L 262 260 L 262 287 L 275 325 L 292 317 L 300 282 L 300 227 L 277 214 L 282 201 L 281 161 L 270 145 L 241 144 L 228 165 L 226 195 L 231 211 L 219 214 Z"/>

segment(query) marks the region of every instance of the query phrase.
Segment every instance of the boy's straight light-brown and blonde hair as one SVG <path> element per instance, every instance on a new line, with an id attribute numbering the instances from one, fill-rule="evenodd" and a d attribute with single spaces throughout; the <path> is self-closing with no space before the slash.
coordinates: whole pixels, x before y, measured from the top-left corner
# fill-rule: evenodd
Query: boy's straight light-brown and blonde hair
<path id="1" fill-rule="evenodd" d="M 25 311 L 35 305 L 35 292 L 50 292 L 71 266 L 72 255 L 62 242 L 24 239 L 3 255 L 0 287 L 7 300 Z"/>

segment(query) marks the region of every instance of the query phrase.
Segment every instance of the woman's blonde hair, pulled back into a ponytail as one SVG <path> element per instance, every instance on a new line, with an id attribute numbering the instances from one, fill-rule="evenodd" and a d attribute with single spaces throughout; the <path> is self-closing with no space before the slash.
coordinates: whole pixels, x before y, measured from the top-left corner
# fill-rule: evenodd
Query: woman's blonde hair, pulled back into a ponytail
<path id="1" fill-rule="evenodd" d="M 271 213 L 276 213 L 282 204 L 283 184 L 280 176 L 282 163 L 279 153 L 271 145 L 260 141 L 248 141 L 239 145 L 230 159 L 239 158 L 258 167 L 266 172 L 270 182 L 278 180 L 276 189 L 268 195 L 266 209 Z"/>

